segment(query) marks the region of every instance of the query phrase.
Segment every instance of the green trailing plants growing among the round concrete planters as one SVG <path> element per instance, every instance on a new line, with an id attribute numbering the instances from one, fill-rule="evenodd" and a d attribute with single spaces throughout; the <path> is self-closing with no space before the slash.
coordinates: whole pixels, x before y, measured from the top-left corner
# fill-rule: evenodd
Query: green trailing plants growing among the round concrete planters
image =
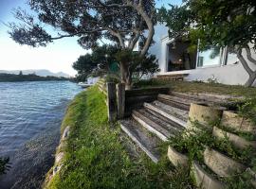
<path id="1" fill-rule="evenodd" d="M 213 126 L 211 125 L 213 123 L 219 123 L 219 120 L 210 123 L 210 127 Z M 246 163 L 250 166 L 252 165 L 251 154 L 253 154 L 253 149 L 251 147 L 239 150 L 237 147 L 233 146 L 227 135 L 224 139 L 217 139 L 212 136 L 209 130 L 203 129 L 203 126 L 198 123 L 198 121 L 193 121 L 192 127 L 194 129 L 186 130 L 180 135 L 170 139 L 170 145 L 177 151 L 188 154 L 190 161 L 197 160 L 199 162 L 203 162 L 203 152 L 206 146 L 208 146 L 225 153 L 230 158 L 238 162 Z"/>

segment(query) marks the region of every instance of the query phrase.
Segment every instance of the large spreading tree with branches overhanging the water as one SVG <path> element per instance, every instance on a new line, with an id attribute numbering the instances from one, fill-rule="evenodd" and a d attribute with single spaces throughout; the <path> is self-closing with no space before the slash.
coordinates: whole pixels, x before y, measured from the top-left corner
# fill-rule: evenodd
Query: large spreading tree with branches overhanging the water
<path id="1" fill-rule="evenodd" d="M 119 49 L 132 50 L 141 38 L 145 39 L 139 51 L 143 57 L 155 33 L 154 0 L 31 0 L 28 4 L 37 19 L 26 10 L 16 9 L 15 17 L 22 23 L 9 24 L 11 38 L 20 44 L 46 46 L 54 40 L 77 36 L 86 49 L 107 39 Z M 53 26 L 60 32 L 53 37 L 42 24 Z M 148 30 L 147 35 L 145 30 Z M 125 62 L 119 62 L 119 65 L 121 81 L 131 83 L 129 66 Z"/>

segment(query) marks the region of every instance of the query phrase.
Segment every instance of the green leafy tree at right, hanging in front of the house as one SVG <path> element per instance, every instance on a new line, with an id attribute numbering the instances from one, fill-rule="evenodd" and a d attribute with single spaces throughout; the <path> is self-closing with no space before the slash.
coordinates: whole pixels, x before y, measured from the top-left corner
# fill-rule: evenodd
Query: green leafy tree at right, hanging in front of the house
<path id="1" fill-rule="evenodd" d="M 172 28 L 171 33 L 190 39 L 193 46 L 200 39 L 200 49 L 210 45 L 229 46 L 247 71 L 249 77 L 245 85 L 251 86 L 255 81 L 256 71 L 249 67 L 248 61 L 256 64 L 256 60 L 251 57 L 248 43 L 252 43 L 255 50 L 255 8 L 254 0 L 186 0 L 181 7 L 160 9 L 159 18 Z M 183 28 L 180 29 L 181 27 Z M 242 55 L 243 49 L 247 52 L 247 60 Z"/>

